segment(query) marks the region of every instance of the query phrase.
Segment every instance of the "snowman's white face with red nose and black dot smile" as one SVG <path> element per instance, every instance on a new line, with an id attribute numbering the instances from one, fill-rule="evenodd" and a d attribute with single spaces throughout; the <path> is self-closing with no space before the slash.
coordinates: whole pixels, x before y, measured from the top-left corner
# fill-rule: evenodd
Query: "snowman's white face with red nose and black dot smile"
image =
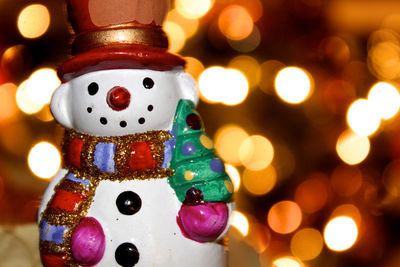
<path id="1" fill-rule="evenodd" d="M 197 102 L 194 80 L 181 70 L 104 70 L 62 84 L 51 110 L 66 128 L 120 136 L 170 129 L 180 99 Z"/>

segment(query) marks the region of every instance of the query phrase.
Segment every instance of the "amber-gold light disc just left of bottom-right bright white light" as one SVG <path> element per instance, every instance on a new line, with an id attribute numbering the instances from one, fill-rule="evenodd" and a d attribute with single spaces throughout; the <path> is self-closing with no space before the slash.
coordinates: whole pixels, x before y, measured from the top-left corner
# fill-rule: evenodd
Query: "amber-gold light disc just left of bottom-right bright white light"
<path id="1" fill-rule="evenodd" d="M 319 256 L 324 246 L 321 233 L 313 228 L 299 230 L 290 241 L 290 250 L 297 258 L 308 261 Z"/>

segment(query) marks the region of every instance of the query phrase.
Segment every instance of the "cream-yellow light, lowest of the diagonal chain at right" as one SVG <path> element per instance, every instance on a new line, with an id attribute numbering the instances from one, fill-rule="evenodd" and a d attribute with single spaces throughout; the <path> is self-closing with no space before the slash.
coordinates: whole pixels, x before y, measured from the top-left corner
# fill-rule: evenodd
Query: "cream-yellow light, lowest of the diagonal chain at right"
<path id="1" fill-rule="evenodd" d="M 340 159 L 349 165 L 361 163 L 370 150 L 368 137 L 359 136 L 351 130 L 344 131 L 336 143 L 336 152 Z"/>

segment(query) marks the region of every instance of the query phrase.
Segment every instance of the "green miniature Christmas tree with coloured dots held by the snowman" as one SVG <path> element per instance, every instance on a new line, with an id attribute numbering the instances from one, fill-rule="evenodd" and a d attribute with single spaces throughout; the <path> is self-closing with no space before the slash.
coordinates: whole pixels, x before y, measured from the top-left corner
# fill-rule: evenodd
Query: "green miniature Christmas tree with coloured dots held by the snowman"
<path id="1" fill-rule="evenodd" d="M 196 188 L 203 193 L 204 201 L 227 202 L 232 197 L 232 182 L 192 101 L 179 102 L 172 135 L 176 143 L 170 168 L 175 172 L 168 181 L 178 199 L 183 202 L 187 190 Z"/>

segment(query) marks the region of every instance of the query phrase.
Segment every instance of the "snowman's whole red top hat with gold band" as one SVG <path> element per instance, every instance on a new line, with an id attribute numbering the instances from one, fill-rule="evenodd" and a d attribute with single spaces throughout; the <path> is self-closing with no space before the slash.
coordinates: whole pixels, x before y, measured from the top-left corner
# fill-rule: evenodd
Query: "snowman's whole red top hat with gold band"
<path id="1" fill-rule="evenodd" d="M 73 57 L 58 68 L 63 81 L 96 70 L 185 65 L 167 52 L 168 0 L 67 0 L 67 9 L 75 35 Z"/>

